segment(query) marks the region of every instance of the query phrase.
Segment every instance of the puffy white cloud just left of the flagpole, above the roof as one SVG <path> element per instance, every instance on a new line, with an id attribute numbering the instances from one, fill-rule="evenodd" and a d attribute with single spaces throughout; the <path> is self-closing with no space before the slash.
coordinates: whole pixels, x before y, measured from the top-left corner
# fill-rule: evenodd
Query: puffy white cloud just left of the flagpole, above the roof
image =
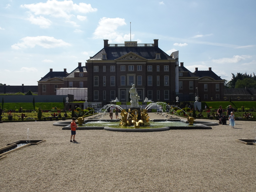
<path id="1" fill-rule="evenodd" d="M 129 40 L 134 35 L 118 33 L 118 27 L 126 25 L 125 19 L 122 18 L 107 18 L 100 19 L 97 28 L 94 31 L 94 39 L 109 39 L 109 41 L 123 42 Z"/>

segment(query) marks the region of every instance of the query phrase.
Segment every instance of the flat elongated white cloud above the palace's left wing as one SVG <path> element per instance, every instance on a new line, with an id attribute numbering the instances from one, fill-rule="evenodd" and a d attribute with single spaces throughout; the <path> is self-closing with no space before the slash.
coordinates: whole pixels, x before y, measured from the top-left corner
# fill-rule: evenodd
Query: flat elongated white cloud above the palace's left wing
<path id="1" fill-rule="evenodd" d="M 71 46 L 69 43 L 63 41 L 62 39 L 55 39 L 49 36 L 37 36 L 37 37 L 24 37 L 20 39 L 22 42 L 18 42 L 11 47 L 13 49 L 22 48 L 34 48 L 36 45 L 43 48 L 55 48 L 55 47 L 67 47 Z"/>

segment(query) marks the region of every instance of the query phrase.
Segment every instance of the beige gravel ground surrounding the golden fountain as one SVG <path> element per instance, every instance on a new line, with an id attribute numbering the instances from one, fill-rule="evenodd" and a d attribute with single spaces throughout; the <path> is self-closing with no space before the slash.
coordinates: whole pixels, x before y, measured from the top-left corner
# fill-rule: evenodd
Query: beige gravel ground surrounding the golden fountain
<path id="1" fill-rule="evenodd" d="M 0 160 L 0 191 L 255 192 L 256 145 L 236 139 L 254 139 L 256 122 L 148 133 L 78 130 L 77 143 L 53 123 L 0 124 L 0 147 L 27 140 L 28 128 L 30 140 L 46 140 Z"/>

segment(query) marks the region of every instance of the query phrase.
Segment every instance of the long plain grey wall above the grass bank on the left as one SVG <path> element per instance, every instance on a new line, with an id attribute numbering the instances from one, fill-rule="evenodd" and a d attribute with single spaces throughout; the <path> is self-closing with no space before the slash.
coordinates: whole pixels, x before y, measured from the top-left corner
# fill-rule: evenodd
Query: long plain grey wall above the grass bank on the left
<path id="1" fill-rule="evenodd" d="M 4 103 L 32 103 L 35 98 L 35 103 L 62 103 L 66 97 L 68 95 L 1 95 L 0 102 L 4 98 Z"/>

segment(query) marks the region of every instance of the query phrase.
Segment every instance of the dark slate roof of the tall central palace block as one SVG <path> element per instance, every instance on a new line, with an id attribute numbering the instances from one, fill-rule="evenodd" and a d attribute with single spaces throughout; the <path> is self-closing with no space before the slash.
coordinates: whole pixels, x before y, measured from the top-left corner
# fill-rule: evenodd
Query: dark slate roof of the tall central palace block
<path id="1" fill-rule="evenodd" d="M 133 52 L 145 59 L 155 59 L 156 54 L 160 53 L 161 59 L 173 60 L 172 57 L 167 55 L 158 47 L 104 47 L 96 55 L 91 57 L 89 60 L 102 60 L 102 54 L 107 54 L 108 60 L 115 60 L 129 52 Z"/>

